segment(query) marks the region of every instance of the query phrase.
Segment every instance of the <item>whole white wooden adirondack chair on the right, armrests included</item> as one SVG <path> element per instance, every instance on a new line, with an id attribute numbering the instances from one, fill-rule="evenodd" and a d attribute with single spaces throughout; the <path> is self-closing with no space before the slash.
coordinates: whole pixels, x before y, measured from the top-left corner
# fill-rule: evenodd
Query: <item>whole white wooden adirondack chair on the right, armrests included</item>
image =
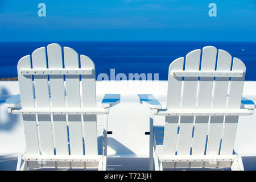
<path id="1" fill-rule="evenodd" d="M 240 115 L 253 114 L 255 108 L 253 101 L 242 98 L 245 65 L 212 46 L 203 48 L 201 66 L 200 56 L 196 49 L 185 63 L 180 57 L 170 64 L 166 109 L 154 96 L 138 94 L 151 110 L 150 169 L 154 158 L 155 170 L 243 170 L 241 156 L 233 152 L 237 123 Z M 165 116 L 164 126 L 153 125 L 154 115 Z"/>

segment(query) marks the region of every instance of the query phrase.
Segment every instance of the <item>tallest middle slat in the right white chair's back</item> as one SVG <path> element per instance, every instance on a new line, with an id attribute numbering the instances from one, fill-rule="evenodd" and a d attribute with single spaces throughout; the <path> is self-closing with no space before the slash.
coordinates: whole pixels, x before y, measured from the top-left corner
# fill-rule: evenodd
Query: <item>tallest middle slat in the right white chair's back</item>
<path id="1" fill-rule="evenodd" d="M 201 71 L 214 71 L 217 49 L 213 46 L 203 48 Z M 210 109 L 212 101 L 213 77 L 200 77 L 196 109 Z M 193 135 L 192 155 L 204 155 L 207 139 L 208 116 L 196 116 Z M 191 162 L 191 168 L 203 167 L 203 162 Z"/>

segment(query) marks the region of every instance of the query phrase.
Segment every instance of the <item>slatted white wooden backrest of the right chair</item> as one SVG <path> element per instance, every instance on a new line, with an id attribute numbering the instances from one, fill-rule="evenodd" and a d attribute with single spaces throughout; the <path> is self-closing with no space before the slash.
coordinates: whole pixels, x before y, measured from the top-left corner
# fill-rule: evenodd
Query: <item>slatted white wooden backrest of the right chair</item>
<path id="1" fill-rule="evenodd" d="M 185 75 L 177 77 L 175 73 L 179 71 Z M 208 76 L 196 76 L 196 71 L 205 71 Z M 237 71 L 240 76 L 231 77 L 230 71 Z M 192 74 L 194 76 L 189 76 Z M 185 60 L 180 57 L 170 64 L 167 108 L 240 109 L 244 79 L 245 65 L 240 59 L 234 57 L 232 61 L 228 52 L 217 51 L 212 46 L 204 47 L 202 55 L 201 50 L 196 49 L 189 52 Z M 167 116 L 163 152 L 168 155 L 233 154 L 237 122 L 238 116 Z M 177 163 L 177 167 L 188 165 L 188 162 Z M 190 165 L 230 167 L 230 162 L 191 162 Z"/>

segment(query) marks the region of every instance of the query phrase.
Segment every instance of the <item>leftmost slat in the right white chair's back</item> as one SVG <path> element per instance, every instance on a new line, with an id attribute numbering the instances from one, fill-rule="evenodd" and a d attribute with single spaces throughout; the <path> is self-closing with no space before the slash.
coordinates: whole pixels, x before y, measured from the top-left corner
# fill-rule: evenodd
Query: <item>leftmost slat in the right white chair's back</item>
<path id="1" fill-rule="evenodd" d="M 183 64 L 184 57 L 180 57 L 170 64 L 168 74 L 167 109 L 180 109 L 182 78 L 173 77 L 171 71 L 172 69 L 183 70 Z M 175 154 L 178 122 L 179 117 L 177 116 L 166 116 L 165 118 L 163 154 Z M 170 164 L 170 166 L 174 167 L 174 163 Z"/>

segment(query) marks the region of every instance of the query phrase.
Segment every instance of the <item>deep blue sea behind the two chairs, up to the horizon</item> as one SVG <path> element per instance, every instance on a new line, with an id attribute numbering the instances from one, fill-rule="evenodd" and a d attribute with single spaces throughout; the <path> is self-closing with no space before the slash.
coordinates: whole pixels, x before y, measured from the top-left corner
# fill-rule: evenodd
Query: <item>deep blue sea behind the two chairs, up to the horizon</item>
<path id="1" fill-rule="evenodd" d="M 0 78 L 17 77 L 19 59 L 39 47 L 53 42 L 0 43 Z M 89 56 L 96 66 L 96 77 L 110 69 L 118 73 L 159 73 L 159 80 L 167 80 L 168 67 L 178 57 L 188 52 L 215 46 L 238 57 L 246 65 L 245 80 L 256 80 L 256 42 L 54 42 Z"/>

